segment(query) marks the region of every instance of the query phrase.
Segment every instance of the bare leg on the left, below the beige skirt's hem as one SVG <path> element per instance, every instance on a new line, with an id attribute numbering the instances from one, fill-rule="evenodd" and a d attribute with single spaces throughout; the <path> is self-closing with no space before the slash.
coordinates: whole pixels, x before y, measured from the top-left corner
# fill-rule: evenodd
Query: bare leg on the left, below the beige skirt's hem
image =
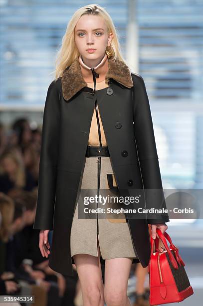
<path id="1" fill-rule="evenodd" d="M 100 256 L 100 249 L 98 255 Z M 104 306 L 104 283 L 99 256 L 73 255 L 82 290 L 83 306 Z"/>

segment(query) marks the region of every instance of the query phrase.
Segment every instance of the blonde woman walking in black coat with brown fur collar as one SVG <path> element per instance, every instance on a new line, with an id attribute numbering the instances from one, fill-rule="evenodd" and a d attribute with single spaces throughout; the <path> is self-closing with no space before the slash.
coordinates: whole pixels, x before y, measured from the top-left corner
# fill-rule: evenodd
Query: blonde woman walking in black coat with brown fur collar
<path id="1" fill-rule="evenodd" d="M 115 195 L 143 187 L 162 190 L 145 83 L 125 63 L 107 11 L 86 5 L 68 23 L 47 91 L 33 226 L 40 229 L 39 247 L 50 255 L 53 270 L 71 276 L 75 263 L 85 306 L 130 305 L 131 264 L 149 262 L 148 223 L 156 236 L 156 227 L 167 229 L 169 217 L 97 210 L 95 217 L 82 218 L 79 190 L 98 196 L 102 189 Z M 153 204 L 166 207 L 156 192 Z M 96 196 L 91 207 L 100 207 Z"/>

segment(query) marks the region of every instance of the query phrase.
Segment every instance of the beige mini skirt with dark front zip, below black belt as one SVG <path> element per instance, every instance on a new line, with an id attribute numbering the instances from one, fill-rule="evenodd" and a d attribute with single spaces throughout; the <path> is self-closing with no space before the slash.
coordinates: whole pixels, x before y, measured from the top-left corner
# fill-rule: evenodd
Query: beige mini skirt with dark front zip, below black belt
<path id="1" fill-rule="evenodd" d="M 94 189 L 94 192 L 97 191 L 97 160 L 98 157 L 86 157 L 79 189 Z M 100 189 L 109 189 L 109 194 L 113 194 L 109 188 L 107 174 L 110 175 L 108 177 L 112 178 L 113 185 L 117 186 L 110 157 L 101 157 Z M 133 247 L 129 222 L 127 222 L 125 214 L 120 213 L 118 219 L 110 218 L 110 216 L 105 218 L 104 216 L 102 218 L 78 218 L 79 195 L 76 202 L 70 237 L 71 256 L 85 253 L 102 256 L 103 259 L 138 258 Z M 82 204 L 84 207 L 84 203 Z"/>

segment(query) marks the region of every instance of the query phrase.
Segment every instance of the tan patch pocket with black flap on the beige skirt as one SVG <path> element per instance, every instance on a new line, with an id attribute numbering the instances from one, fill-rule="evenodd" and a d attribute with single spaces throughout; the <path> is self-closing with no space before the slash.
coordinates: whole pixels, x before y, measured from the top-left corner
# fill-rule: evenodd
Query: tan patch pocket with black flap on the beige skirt
<path id="1" fill-rule="evenodd" d="M 114 172 L 107 172 L 106 173 L 106 189 L 109 189 L 110 196 L 118 196 L 119 197 L 119 188 L 116 183 L 115 174 Z M 115 201 L 111 201 L 108 203 L 108 207 L 111 207 L 113 209 L 116 209 L 119 205 Z M 113 218 L 110 218 L 110 216 L 113 215 Z M 106 218 L 109 222 L 112 223 L 126 223 L 126 217 L 124 213 L 106 213 Z"/>

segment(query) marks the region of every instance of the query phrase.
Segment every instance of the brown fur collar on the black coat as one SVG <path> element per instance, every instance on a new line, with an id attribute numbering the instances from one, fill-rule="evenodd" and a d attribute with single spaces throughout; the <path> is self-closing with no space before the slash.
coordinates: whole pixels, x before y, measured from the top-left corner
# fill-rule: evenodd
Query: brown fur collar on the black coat
<path id="1" fill-rule="evenodd" d="M 106 83 L 113 78 L 122 85 L 133 87 L 131 72 L 124 61 L 116 58 L 115 62 L 108 60 L 108 71 L 105 77 Z M 83 78 L 78 58 L 63 71 L 61 77 L 62 93 L 65 100 L 69 100 L 76 92 L 87 86 Z"/>

